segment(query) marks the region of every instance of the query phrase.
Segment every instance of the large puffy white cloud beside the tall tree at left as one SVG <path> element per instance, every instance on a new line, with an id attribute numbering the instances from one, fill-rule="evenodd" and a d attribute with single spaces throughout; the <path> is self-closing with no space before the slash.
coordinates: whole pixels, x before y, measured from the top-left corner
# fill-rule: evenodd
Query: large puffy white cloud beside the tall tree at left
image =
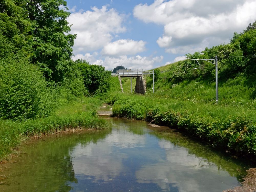
<path id="1" fill-rule="evenodd" d="M 71 33 L 77 34 L 73 47 L 75 55 L 98 50 L 109 44 L 115 34 L 126 30 L 122 26 L 125 15 L 120 15 L 115 9 L 108 9 L 107 6 L 91 9 L 86 12 L 71 13 L 67 18 L 72 25 Z"/>

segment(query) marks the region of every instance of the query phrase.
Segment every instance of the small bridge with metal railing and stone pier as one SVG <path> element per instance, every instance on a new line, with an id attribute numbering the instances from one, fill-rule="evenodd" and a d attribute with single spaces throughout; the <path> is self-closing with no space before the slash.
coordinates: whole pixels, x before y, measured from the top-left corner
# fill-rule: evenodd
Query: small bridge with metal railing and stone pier
<path id="1" fill-rule="evenodd" d="M 146 85 L 143 78 L 143 70 L 142 69 L 119 69 L 116 74 L 111 73 L 111 75 L 118 75 L 118 79 L 120 82 L 120 87 L 123 92 L 123 86 L 121 77 L 136 77 L 136 85 L 135 85 L 135 93 L 145 94 Z"/>

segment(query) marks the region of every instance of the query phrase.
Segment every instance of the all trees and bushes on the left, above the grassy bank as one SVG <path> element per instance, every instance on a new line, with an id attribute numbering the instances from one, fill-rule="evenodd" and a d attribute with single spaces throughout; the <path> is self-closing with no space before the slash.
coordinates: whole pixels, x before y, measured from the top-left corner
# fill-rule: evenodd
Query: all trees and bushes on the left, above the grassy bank
<path id="1" fill-rule="evenodd" d="M 73 98 L 109 88 L 104 67 L 71 60 L 69 15 L 63 0 L 0 2 L 0 119 L 43 117 L 60 92 Z"/>

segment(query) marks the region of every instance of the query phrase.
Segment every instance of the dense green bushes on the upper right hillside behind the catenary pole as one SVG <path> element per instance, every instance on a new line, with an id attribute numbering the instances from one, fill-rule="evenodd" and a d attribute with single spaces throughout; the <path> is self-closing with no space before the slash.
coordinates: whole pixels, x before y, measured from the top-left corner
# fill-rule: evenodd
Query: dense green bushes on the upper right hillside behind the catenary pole
<path id="1" fill-rule="evenodd" d="M 233 35 L 230 44 L 220 44 L 213 46 L 212 48 L 205 48 L 204 51 L 195 52 L 194 54 L 186 54 L 188 60 L 178 63 L 177 67 L 169 69 L 168 80 L 175 84 L 183 80 L 211 80 L 215 79 L 215 66 L 207 61 L 199 61 L 199 65 L 192 59 L 214 59 L 218 56 L 218 74 L 219 80 L 227 80 L 229 78 L 235 78 L 241 74 L 247 76 L 252 75 L 256 71 L 254 65 L 256 57 L 256 22 L 253 25 L 249 25 L 244 33 Z M 244 57 L 248 56 L 248 57 Z"/>

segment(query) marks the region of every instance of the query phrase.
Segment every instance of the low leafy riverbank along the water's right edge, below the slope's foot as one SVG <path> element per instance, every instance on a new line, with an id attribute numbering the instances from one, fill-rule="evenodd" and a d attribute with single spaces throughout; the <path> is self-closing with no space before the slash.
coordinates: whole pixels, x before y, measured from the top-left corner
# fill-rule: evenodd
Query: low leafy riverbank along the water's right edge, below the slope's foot
<path id="1" fill-rule="evenodd" d="M 113 93 L 107 102 L 114 116 L 146 119 L 233 155 L 255 157 L 255 110 L 125 93 Z"/>

